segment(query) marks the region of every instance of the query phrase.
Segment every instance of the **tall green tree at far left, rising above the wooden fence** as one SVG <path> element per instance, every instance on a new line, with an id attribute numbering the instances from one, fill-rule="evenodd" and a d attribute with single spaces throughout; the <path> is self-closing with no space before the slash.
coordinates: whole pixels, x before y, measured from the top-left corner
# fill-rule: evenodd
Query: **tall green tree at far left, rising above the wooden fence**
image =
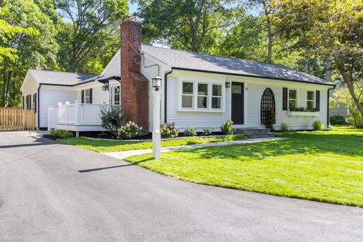
<path id="1" fill-rule="evenodd" d="M 0 9 L 1 29 L 6 30 L 0 40 L 0 50 L 6 50 L 0 57 L 1 106 L 16 106 L 29 68 L 55 68 L 58 18 L 51 0 L 3 0 Z"/>

